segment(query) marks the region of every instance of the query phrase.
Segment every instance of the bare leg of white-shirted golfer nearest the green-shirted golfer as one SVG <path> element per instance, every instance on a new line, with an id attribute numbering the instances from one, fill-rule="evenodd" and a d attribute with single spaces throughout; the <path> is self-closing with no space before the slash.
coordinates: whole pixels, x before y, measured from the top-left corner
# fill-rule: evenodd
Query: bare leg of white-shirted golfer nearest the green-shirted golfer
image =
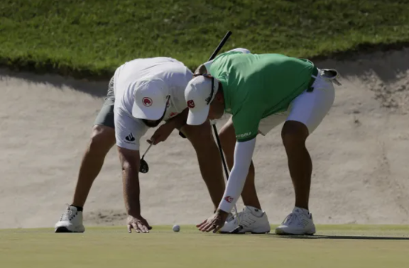
<path id="1" fill-rule="evenodd" d="M 207 121 L 202 125 L 184 125 L 181 130 L 195 148 L 200 173 L 216 211 L 222 200 L 225 184 L 219 148 L 212 135 L 212 125 Z"/>

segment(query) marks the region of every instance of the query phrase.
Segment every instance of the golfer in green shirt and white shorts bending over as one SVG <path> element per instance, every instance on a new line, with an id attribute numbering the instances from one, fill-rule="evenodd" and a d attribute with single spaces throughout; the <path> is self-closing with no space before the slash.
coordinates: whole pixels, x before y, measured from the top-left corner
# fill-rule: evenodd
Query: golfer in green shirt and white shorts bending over
<path id="1" fill-rule="evenodd" d="M 305 140 L 334 103 L 332 83 L 339 84 L 337 71 L 317 69 L 309 60 L 235 49 L 201 65 L 196 73 L 185 90 L 190 109 L 187 124 L 201 125 L 207 118 L 214 120 L 224 113 L 231 114 L 219 133 L 231 169 L 229 181 L 214 216 L 197 227 L 205 232 L 270 232 L 256 194 L 251 159 L 258 134 L 266 135 L 285 121 L 281 136 L 293 180 L 295 206 L 276 233 L 314 234 L 308 208 L 312 161 Z M 239 196 L 246 207 L 226 222 Z"/>

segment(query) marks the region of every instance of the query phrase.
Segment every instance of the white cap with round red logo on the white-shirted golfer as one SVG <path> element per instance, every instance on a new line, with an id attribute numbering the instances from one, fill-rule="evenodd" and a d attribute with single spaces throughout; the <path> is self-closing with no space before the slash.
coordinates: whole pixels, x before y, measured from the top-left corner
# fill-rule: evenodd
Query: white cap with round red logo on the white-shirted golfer
<path id="1" fill-rule="evenodd" d="M 161 79 L 143 79 L 133 84 L 135 101 L 132 116 L 139 119 L 158 120 L 168 105 L 168 86 Z"/>

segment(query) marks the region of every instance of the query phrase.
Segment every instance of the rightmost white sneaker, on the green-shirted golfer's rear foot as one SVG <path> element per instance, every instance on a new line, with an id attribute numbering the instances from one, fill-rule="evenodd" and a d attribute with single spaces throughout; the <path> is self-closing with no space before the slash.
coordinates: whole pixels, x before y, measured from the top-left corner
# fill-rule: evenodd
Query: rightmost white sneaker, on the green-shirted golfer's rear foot
<path id="1" fill-rule="evenodd" d="M 307 210 L 295 207 L 276 228 L 277 235 L 313 235 L 315 225 L 312 222 L 312 214 Z"/>

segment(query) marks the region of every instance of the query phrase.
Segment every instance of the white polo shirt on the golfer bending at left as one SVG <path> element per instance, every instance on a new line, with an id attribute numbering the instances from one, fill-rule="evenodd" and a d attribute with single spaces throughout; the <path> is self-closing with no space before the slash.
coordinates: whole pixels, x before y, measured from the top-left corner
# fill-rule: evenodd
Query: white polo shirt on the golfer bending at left
<path id="1" fill-rule="evenodd" d="M 116 145 L 139 150 L 139 140 L 148 130 L 143 121 L 132 116 L 134 92 L 138 80 L 160 79 L 168 86 L 168 108 L 163 120 L 177 116 L 185 108 L 185 88 L 193 74 L 182 62 L 170 57 L 151 57 L 124 63 L 114 74 L 114 123 Z"/>

